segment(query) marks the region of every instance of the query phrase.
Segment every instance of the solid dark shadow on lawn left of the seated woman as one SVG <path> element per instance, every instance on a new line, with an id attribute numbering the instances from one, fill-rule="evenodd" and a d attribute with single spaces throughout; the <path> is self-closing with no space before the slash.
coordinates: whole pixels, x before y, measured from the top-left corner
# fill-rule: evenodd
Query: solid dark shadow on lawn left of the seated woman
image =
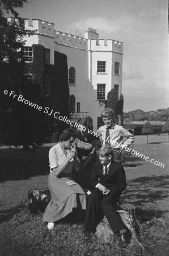
<path id="1" fill-rule="evenodd" d="M 49 149 L 49 146 L 28 152 L 21 148 L 0 149 L 0 182 L 49 174 Z"/>

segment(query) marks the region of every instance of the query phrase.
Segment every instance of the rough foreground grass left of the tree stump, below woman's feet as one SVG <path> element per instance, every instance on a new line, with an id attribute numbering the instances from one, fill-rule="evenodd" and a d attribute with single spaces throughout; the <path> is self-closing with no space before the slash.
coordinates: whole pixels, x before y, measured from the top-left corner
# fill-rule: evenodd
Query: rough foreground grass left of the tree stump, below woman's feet
<path id="1" fill-rule="evenodd" d="M 60 222 L 48 230 L 43 214 L 31 214 L 23 205 L 17 214 L 3 222 L 0 255 L 112 255 L 114 250 L 99 238 L 84 241 L 83 224 Z M 117 250 L 118 251 L 118 250 Z M 120 255 L 120 254 L 116 254 Z"/>

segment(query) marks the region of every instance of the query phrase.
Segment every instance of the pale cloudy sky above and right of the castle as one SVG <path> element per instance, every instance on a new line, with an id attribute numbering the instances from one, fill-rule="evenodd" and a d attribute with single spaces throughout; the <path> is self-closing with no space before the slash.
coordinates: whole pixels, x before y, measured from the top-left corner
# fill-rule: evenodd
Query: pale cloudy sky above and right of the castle
<path id="1" fill-rule="evenodd" d="M 84 36 L 91 27 L 123 42 L 124 111 L 169 107 L 167 0 L 28 0 L 17 11 L 57 31 Z"/>

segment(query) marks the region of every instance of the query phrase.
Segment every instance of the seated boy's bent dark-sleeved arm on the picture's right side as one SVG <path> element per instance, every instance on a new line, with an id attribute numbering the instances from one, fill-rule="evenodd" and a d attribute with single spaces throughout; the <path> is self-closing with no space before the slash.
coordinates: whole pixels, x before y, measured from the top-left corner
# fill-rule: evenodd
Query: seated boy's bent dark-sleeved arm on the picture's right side
<path id="1" fill-rule="evenodd" d="M 117 173 L 117 182 L 116 182 L 116 184 L 113 184 L 112 187 L 107 186 L 107 189 L 109 189 L 111 191 L 112 195 L 119 195 L 126 188 L 125 171 L 124 171 L 124 168 L 122 167 L 121 164 L 120 164 L 119 169 L 117 170 L 117 172 L 118 173 Z"/>

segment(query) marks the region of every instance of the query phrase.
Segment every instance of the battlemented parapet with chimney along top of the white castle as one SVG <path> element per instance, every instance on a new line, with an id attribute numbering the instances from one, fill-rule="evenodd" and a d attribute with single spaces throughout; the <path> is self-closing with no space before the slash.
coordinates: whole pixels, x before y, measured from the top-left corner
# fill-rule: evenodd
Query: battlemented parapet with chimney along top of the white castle
<path id="1" fill-rule="evenodd" d="M 17 21 L 15 18 L 8 18 L 10 22 Z M 41 19 L 24 19 L 25 28 L 28 30 L 36 30 L 39 36 L 49 36 L 54 39 L 56 44 L 68 47 L 84 49 L 91 51 L 115 51 L 122 53 L 123 43 L 116 40 L 99 39 L 99 34 L 94 28 L 88 27 L 84 32 L 84 38 L 72 34 L 54 30 L 54 23 L 43 21 Z"/>

